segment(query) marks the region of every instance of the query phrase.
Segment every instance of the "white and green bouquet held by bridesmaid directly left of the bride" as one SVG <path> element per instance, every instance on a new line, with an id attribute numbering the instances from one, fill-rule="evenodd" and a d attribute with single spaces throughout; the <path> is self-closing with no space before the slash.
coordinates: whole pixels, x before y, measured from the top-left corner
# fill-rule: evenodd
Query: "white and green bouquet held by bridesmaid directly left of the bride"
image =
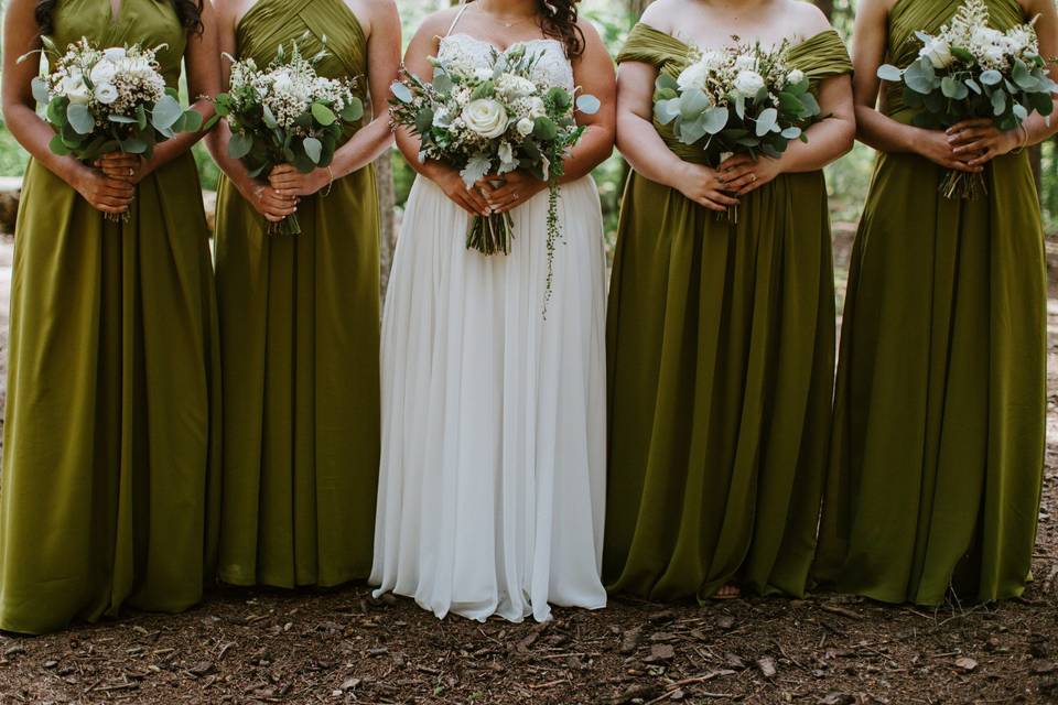
<path id="1" fill-rule="evenodd" d="M 289 54 L 280 45 L 264 69 L 252 58 L 227 57 L 233 62 L 230 85 L 215 105 L 217 116 L 231 128 L 228 155 L 241 160 L 250 177 L 267 176 L 281 164 L 304 174 L 330 166 L 345 127 L 364 117 L 355 80 L 316 73 L 324 56 L 321 51 L 306 58 L 293 43 Z M 301 232 L 298 216 L 288 216 L 270 232 Z"/>

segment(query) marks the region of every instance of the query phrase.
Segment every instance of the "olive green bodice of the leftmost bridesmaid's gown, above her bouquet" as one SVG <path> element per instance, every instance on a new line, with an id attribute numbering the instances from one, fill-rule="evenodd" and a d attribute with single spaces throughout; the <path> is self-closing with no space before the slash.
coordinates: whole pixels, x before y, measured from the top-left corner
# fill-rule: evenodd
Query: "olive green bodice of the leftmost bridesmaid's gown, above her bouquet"
<path id="1" fill-rule="evenodd" d="M 121 0 L 117 14 L 110 0 L 61 0 L 53 14 L 52 41 L 60 52 L 83 37 L 99 46 L 140 44 L 144 48 L 164 47 L 158 53 L 165 84 L 180 84 L 181 65 L 187 48 L 187 30 L 181 25 L 171 2 Z"/>

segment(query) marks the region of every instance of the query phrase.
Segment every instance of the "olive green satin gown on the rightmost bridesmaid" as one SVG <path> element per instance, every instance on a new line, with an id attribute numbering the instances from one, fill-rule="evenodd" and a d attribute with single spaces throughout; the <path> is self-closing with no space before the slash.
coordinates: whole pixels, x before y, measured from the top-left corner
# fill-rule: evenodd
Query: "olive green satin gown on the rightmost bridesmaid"
<path id="1" fill-rule="evenodd" d="M 898 0 L 888 61 L 957 0 Z M 1024 21 L 989 0 L 992 22 Z M 898 90 L 888 115 L 908 122 Z M 881 154 L 852 256 L 818 577 L 889 603 L 1019 595 L 1044 465 L 1044 237 L 1026 154 L 994 160 L 979 200 L 944 170 Z"/>

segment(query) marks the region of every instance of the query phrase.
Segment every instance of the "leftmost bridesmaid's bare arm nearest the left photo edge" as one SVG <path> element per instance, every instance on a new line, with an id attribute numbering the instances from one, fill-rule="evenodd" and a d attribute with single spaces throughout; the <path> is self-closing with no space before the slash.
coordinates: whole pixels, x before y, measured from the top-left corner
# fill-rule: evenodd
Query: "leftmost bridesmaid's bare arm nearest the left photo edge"
<path id="1" fill-rule="evenodd" d="M 95 208 L 123 213 L 132 199 L 130 184 L 111 180 L 73 156 L 60 156 L 48 149 L 55 132 L 36 115 L 31 82 L 37 61 L 19 57 L 41 48 L 40 29 L 33 17 L 34 0 L 11 0 L 3 22 L 3 119 L 14 139 L 35 161 L 80 193 Z"/>

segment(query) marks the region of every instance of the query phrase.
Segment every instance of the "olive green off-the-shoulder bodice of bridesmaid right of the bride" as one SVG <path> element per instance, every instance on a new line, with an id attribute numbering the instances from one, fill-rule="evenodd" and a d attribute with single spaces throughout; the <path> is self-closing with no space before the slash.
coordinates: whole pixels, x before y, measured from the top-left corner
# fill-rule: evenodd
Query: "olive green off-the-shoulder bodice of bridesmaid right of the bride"
<path id="1" fill-rule="evenodd" d="M 676 78 L 694 62 L 697 50 L 671 34 L 656 30 L 649 24 L 639 23 L 633 28 L 628 41 L 617 55 L 617 63 L 641 62 L 650 64 L 659 72 Z M 852 59 L 849 50 L 835 30 L 824 30 L 790 47 L 787 53 L 790 68 L 798 68 L 811 80 L 812 90 L 820 82 L 852 73 Z M 655 129 L 666 145 L 680 159 L 691 162 L 704 162 L 705 152 L 680 142 L 672 126 L 657 120 Z"/>

